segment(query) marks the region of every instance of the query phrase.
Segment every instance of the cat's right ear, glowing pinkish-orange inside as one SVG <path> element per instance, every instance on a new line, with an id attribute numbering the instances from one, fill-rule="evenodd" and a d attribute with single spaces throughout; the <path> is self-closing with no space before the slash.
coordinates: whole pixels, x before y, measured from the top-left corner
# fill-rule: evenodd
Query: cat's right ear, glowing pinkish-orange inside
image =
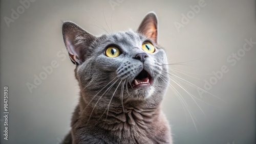
<path id="1" fill-rule="evenodd" d="M 150 12 L 144 17 L 137 32 L 157 43 L 157 16 L 154 12 Z"/>

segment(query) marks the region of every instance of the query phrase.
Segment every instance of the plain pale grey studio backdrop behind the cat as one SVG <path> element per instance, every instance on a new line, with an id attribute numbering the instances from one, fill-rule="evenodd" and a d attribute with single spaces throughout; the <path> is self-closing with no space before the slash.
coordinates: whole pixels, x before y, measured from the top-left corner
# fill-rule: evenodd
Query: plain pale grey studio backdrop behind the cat
<path id="1" fill-rule="evenodd" d="M 255 143 L 255 1 L 205 0 L 194 12 L 191 7 L 199 3 L 31 0 L 23 10 L 19 1 L 1 1 L 1 143 L 55 144 L 70 130 L 79 89 L 75 65 L 62 51 L 62 21 L 101 35 L 103 29 L 137 30 L 150 11 L 158 15 L 158 41 L 169 63 L 176 63 L 169 73 L 190 82 L 170 76 L 182 85 L 170 81 L 186 103 L 170 86 L 162 102 L 175 143 Z M 245 39 L 254 43 L 246 45 Z M 245 51 L 244 45 L 251 49 Z M 43 67 L 52 63 L 55 67 L 47 74 Z M 225 73 L 220 74 L 222 67 Z M 35 83 L 40 76 L 44 79 Z M 8 140 L 3 135 L 4 86 L 9 90 Z"/>

